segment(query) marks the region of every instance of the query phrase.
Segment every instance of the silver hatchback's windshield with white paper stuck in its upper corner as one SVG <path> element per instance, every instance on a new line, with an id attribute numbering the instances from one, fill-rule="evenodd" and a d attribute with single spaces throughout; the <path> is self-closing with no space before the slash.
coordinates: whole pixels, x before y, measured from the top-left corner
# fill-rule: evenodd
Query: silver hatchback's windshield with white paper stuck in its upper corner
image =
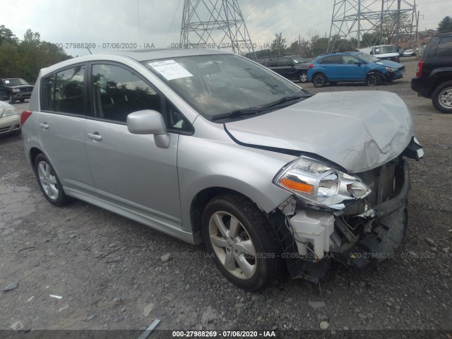
<path id="1" fill-rule="evenodd" d="M 292 82 L 234 54 L 176 57 L 143 64 L 210 120 L 227 113 L 263 109 L 279 100 L 288 102 L 287 97 L 311 96 Z"/>

